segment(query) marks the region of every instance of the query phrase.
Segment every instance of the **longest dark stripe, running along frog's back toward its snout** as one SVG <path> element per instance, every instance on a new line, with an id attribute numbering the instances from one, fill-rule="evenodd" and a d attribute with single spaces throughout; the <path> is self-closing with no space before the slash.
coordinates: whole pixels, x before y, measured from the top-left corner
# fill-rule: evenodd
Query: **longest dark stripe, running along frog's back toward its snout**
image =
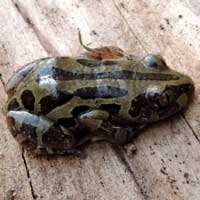
<path id="1" fill-rule="evenodd" d="M 76 73 L 65 71 L 60 68 L 54 68 L 54 79 L 56 80 L 97 80 L 97 79 L 125 79 L 125 80 L 155 80 L 169 81 L 178 80 L 179 77 L 172 74 L 162 73 L 141 73 L 128 70 L 110 71 L 99 73 Z"/>

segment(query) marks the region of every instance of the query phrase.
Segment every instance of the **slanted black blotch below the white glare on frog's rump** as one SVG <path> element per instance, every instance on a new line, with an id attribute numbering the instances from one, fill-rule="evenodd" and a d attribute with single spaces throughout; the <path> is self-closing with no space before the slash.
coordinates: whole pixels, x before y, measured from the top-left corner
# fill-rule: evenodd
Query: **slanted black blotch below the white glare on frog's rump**
<path id="1" fill-rule="evenodd" d="M 47 114 L 54 108 L 61 106 L 73 98 L 73 94 L 67 91 L 57 91 L 55 95 L 48 95 L 41 99 L 41 113 Z"/>

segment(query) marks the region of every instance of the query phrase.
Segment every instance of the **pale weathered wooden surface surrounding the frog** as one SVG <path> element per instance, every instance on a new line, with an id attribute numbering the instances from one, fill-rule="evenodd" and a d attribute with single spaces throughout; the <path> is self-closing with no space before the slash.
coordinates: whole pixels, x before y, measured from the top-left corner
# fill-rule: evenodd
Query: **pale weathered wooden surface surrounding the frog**
<path id="1" fill-rule="evenodd" d="M 144 56 L 160 53 L 195 81 L 182 115 L 155 124 L 134 141 L 131 157 L 109 144 L 83 147 L 86 159 L 35 158 L 22 152 L 0 114 L 0 199 L 199 200 L 200 3 L 196 0 L 1 0 L 0 72 L 7 80 L 25 63 L 115 45 Z M 6 101 L 0 86 L 0 105 Z"/>

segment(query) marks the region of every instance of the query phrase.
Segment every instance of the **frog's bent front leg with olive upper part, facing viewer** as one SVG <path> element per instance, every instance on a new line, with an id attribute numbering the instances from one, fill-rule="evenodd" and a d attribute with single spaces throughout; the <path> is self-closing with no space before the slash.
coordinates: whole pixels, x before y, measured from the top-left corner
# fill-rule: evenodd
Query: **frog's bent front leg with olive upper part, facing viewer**
<path id="1" fill-rule="evenodd" d="M 109 113 L 104 110 L 91 110 L 79 116 L 79 122 L 90 130 L 88 137 L 92 141 L 105 140 L 110 143 L 125 145 L 130 142 L 145 125 L 134 124 L 121 126 L 108 120 Z"/>

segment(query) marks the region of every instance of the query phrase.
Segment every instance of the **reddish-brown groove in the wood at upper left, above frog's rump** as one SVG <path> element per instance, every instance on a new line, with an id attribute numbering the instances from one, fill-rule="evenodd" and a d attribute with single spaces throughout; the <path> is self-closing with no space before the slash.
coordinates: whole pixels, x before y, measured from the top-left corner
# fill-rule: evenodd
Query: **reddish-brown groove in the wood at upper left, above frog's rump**
<path id="1" fill-rule="evenodd" d="M 41 46 L 45 49 L 45 51 L 51 56 L 58 56 L 60 53 L 56 50 L 56 48 L 49 42 L 49 40 L 41 33 L 41 31 L 35 26 L 33 23 L 28 11 L 17 1 L 11 0 L 17 12 L 22 16 L 24 21 L 28 24 L 28 26 L 33 30 L 33 33 L 38 38 Z"/>

